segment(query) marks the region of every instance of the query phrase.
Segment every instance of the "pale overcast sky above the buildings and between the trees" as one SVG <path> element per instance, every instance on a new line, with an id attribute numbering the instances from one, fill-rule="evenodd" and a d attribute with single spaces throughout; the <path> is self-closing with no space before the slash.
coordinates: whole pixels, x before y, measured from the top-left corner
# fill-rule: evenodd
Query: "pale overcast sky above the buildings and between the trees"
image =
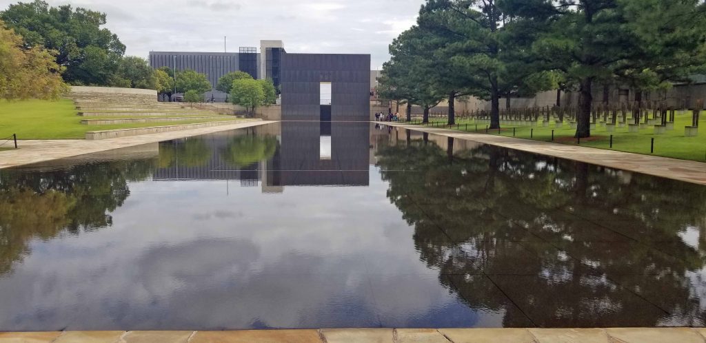
<path id="1" fill-rule="evenodd" d="M 30 0 L 24 0 L 28 2 Z M 18 1 L 0 0 L 0 8 Z M 48 1 L 107 13 L 107 28 L 126 54 L 222 52 L 282 40 L 287 52 L 371 54 L 371 68 L 389 58 L 388 44 L 414 23 L 424 0 L 120 0 Z"/>

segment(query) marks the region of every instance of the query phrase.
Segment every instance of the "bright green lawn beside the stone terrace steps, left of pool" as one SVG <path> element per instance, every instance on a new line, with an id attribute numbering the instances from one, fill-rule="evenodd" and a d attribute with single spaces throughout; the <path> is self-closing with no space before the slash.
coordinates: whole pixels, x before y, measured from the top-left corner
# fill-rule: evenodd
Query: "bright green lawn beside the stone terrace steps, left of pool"
<path id="1" fill-rule="evenodd" d="M 235 117 L 227 116 L 223 119 L 193 119 L 187 121 L 155 121 L 152 123 L 88 126 L 80 124 L 81 119 L 102 119 L 102 117 L 82 117 L 78 116 L 77 113 L 73 102 L 66 99 L 56 102 L 44 100 L 7 102 L 2 100 L 0 101 L 0 138 L 17 133 L 18 139 L 83 139 L 88 131 L 235 120 Z M 116 118 L 116 116 L 111 116 L 111 118 Z"/>

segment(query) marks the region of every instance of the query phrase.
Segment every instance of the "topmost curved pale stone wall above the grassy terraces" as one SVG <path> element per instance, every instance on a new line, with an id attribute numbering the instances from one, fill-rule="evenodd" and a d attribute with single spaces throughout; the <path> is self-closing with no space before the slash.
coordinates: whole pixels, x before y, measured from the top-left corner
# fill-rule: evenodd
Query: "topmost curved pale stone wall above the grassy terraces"
<path id="1" fill-rule="evenodd" d="M 73 86 L 68 97 L 76 102 L 107 102 L 126 105 L 154 106 L 157 103 L 156 90 L 112 87 Z"/>

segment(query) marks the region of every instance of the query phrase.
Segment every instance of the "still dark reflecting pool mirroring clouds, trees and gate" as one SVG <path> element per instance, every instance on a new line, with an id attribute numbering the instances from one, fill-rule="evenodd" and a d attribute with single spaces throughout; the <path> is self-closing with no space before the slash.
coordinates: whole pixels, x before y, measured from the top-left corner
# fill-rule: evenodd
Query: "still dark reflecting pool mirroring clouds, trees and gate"
<path id="1" fill-rule="evenodd" d="M 706 324 L 706 187 L 367 123 L 0 170 L 0 330 Z"/>

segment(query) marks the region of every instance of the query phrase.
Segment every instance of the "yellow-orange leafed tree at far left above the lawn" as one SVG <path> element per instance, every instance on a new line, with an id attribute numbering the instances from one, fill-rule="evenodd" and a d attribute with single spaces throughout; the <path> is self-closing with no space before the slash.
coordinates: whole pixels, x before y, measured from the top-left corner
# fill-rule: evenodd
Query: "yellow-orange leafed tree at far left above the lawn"
<path id="1" fill-rule="evenodd" d="M 54 54 L 44 47 L 23 47 L 22 37 L 0 21 L 0 99 L 58 99 L 68 88 Z"/>

